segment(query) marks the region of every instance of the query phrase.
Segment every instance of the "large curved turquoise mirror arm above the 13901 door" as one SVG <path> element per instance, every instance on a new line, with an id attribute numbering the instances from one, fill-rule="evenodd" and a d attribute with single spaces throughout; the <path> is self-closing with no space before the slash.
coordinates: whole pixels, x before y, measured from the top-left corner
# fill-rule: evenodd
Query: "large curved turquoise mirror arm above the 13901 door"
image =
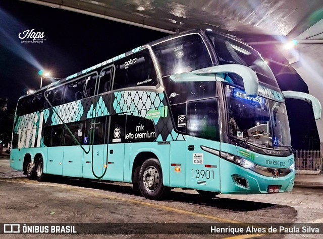
<path id="1" fill-rule="evenodd" d="M 247 96 L 258 95 L 258 77 L 256 73 L 247 66 L 238 64 L 216 65 L 199 70 L 194 70 L 192 73 L 197 75 L 206 75 L 214 73 L 235 73 L 242 77 L 243 85 Z"/>

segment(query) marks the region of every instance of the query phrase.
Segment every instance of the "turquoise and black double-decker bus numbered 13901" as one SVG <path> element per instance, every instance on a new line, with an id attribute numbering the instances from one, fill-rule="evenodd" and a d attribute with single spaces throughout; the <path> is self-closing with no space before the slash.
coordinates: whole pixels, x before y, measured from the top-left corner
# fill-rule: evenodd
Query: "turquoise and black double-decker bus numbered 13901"
<path id="1" fill-rule="evenodd" d="M 19 99 L 11 167 L 133 184 L 148 199 L 172 188 L 203 196 L 291 191 L 284 98 L 260 54 L 225 34 L 191 30 L 151 42 Z"/>

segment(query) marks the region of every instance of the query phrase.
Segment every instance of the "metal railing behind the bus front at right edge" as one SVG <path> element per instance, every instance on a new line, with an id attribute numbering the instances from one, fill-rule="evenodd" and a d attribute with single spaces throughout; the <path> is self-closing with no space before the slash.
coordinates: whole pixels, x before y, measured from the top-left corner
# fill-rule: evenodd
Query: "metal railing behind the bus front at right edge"
<path id="1" fill-rule="evenodd" d="M 295 169 L 322 172 L 322 151 L 295 150 Z"/>

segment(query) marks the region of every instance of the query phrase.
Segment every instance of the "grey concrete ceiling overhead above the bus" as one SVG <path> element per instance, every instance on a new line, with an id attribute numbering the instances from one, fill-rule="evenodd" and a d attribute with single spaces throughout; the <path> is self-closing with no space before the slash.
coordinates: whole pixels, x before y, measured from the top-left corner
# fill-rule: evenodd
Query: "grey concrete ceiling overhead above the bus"
<path id="1" fill-rule="evenodd" d="M 323 18 L 322 0 L 21 0 L 168 33 L 212 28 L 246 38 L 297 36 Z M 156 29 L 155 29 L 156 30 Z"/>

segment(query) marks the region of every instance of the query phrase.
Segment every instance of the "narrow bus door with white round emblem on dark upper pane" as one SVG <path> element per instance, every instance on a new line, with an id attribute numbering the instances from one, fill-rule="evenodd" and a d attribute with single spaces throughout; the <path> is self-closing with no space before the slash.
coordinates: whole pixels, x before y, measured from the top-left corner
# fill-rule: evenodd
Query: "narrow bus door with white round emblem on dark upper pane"
<path id="1" fill-rule="evenodd" d="M 126 115 L 112 115 L 107 145 L 107 171 L 104 179 L 124 181 Z"/>

